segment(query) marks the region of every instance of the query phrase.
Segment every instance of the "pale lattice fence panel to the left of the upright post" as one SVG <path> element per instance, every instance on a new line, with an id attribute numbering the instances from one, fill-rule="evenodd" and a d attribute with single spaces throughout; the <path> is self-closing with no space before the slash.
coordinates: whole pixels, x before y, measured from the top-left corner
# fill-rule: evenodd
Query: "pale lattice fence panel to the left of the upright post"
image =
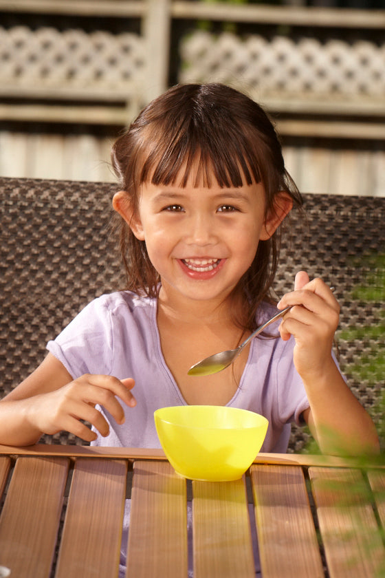
<path id="1" fill-rule="evenodd" d="M 0 93 L 128 100 L 143 81 L 137 34 L 0 27 Z"/>

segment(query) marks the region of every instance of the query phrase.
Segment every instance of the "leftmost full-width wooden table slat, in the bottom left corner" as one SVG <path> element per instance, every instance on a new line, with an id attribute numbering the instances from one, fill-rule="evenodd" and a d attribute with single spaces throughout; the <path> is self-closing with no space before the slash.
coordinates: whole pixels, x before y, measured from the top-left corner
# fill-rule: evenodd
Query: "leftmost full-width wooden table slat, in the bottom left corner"
<path id="1" fill-rule="evenodd" d="M 50 576 L 69 460 L 19 458 L 0 517 L 1 564 L 12 577 Z"/>

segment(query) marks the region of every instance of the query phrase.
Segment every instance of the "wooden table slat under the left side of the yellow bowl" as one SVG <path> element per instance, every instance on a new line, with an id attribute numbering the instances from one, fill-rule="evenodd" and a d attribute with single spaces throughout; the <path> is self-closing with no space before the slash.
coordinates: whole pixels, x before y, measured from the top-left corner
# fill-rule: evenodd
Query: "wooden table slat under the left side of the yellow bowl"
<path id="1" fill-rule="evenodd" d="M 186 480 L 168 462 L 135 462 L 127 577 L 187 576 Z"/>

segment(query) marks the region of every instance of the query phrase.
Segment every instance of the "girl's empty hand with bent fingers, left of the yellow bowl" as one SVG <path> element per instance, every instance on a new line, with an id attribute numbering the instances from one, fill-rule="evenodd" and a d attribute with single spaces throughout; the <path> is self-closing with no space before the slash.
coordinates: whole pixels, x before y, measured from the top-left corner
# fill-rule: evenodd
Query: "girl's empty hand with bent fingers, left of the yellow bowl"
<path id="1" fill-rule="evenodd" d="M 101 436 L 108 436 L 108 422 L 96 409 L 96 404 L 102 405 L 118 424 L 122 424 L 124 411 L 117 397 L 134 407 L 136 400 L 131 394 L 134 385 L 132 378 L 119 380 L 108 375 L 85 374 L 59 389 L 30 398 L 28 420 L 43 434 L 65 430 L 91 442 L 98 436 L 80 420 L 93 425 Z"/>

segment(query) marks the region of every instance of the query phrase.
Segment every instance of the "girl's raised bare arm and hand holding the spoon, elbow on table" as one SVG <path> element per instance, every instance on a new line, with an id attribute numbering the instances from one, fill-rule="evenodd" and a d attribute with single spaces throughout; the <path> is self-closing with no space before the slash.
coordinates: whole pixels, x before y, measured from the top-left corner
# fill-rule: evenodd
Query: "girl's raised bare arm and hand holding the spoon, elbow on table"
<path id="1" fill-rule="evenodd" d="M 281 323 L 281 336 L 296 339 L 294 364 L 303 379 L 310 407 L 304 412 L 323 453 L 359 455 L 380 451 L 373 420 L 344 382 L 331 356 L 340 308 L 329 287 L 296 276 L 294 292 L 280 308 L 294 305 Z"/>

